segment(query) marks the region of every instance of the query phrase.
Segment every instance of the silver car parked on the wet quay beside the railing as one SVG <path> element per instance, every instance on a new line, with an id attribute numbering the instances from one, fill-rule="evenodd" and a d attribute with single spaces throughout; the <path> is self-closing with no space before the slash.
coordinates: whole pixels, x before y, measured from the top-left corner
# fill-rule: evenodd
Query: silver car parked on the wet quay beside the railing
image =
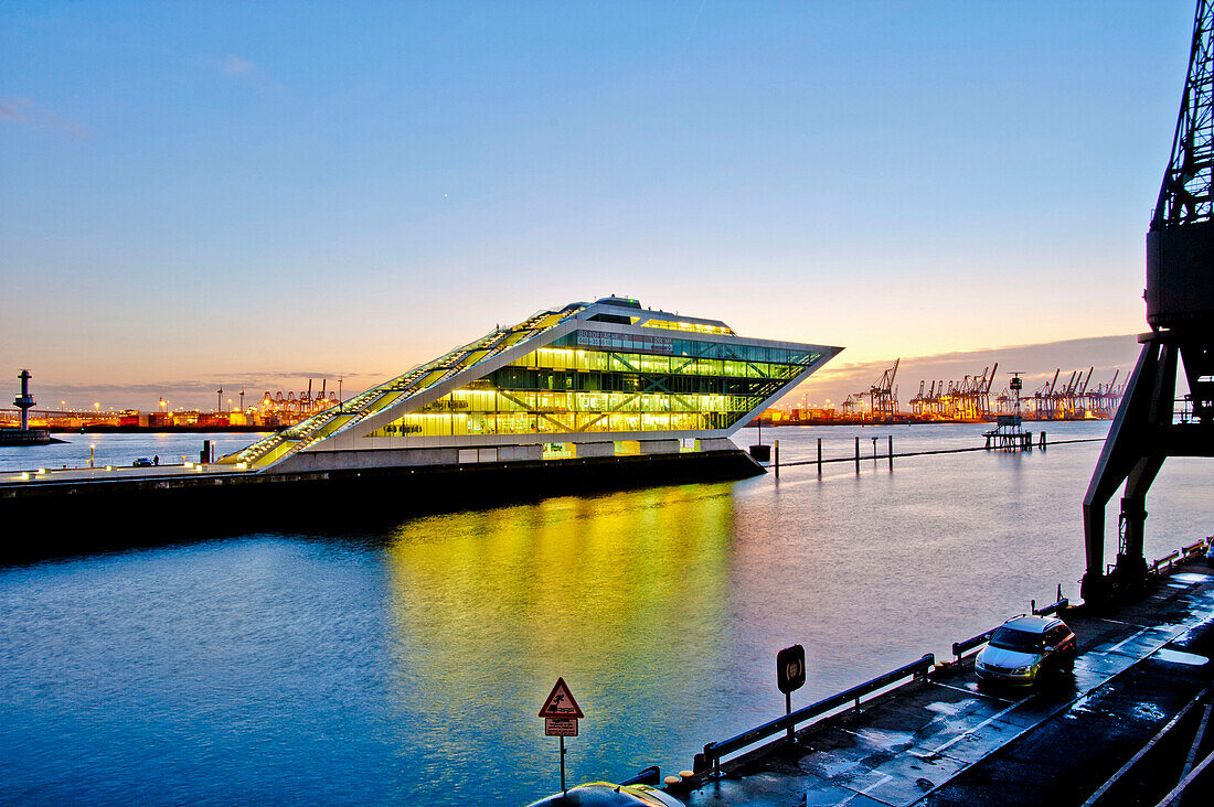
<path id="1" fill-rule="evenodd" d="M 978 678 L 1031 687 L 1042 675 L 1074 669 L 1076 638 L 1056 616 L 1015 616 L 991 633 L 974 660 Z"/>

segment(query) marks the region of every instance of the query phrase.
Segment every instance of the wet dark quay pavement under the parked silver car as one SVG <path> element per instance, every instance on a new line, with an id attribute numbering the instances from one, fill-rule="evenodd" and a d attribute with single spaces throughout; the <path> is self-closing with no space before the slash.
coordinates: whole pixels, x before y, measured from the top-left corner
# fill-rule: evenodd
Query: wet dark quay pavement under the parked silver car
<path id="1" fill-rule="evenodd" d="M 1161 738 L 1091 802 L 1157 803 L 1181 778 L 1185 758 L 1199 762 L 1214 741 L 1214 728 L 1204 731 L 1210 721 L 1201 735 L 1197 724 L 1209 711 L 1197 701 L 1214 680 L 1210 572 L 1189 567 L 1104 614 L 1062 614 L 1079 637 L 1073 675 L 1009 693 L 980 691 L 972 661 L 937 670 L 802 729 L 795 743 L 725 763 L 720 779 L 702 774 L 671 791 L 688 807 L 1083 805 L 1191 704 L 1172 724 L 1175 737 Z M 1155 760 L 1169 745 L 1180 749 L 1179 761 L 1178 754 Z M 1186 802 L 1208 803 L 1193 796 Z"/>

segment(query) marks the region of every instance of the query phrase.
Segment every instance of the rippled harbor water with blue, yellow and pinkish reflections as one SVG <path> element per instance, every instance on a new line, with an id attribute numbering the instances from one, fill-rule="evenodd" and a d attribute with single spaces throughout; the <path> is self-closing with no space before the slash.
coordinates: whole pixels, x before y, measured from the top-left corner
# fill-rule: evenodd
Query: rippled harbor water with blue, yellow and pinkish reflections
<path id="1" fill-rule="evenodd" d="M 788 461 L 818 436 L 850 456 L 853 434 L 870 454 L 873 434 L 902 451 L 981 431 L 764 438 Z M 523 803 L 558 786 L 535 716 L 557 676 L 586 712 L 571 780 L 686 768 L 783 711 L 782 647 L 806 647 L 796 706 L 947 655 L 1060 582 L 1077 595 L 1099 449 L 799 466 L 2 569 L 0 800 Z M 1212 502 L 1208 464 L 1168 460 L 1148 558 L 1212 532 Z"/>

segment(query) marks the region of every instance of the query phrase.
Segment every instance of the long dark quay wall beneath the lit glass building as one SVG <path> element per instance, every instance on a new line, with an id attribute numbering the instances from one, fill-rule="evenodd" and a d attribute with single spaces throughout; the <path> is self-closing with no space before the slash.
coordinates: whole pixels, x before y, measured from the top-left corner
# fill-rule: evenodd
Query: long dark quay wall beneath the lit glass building
<path id="1" fill-rule="evenodd" d="M 537 447 L 538 448 L 538 447 Z M 455 459 L 459 459 L 460 449 Z M 466 450 L 466 449 L 465 449 Z M 475 449 L 473 449 L 475 450 Z M 340 454 L 340 453 L 327 453 Z M 686 451 L 0 484 L 0 562 L 238 535 L 391 527 L 413 516 L 555 495 L 722 482 L 765 471 L 745 453 Z M 301 456 L 307 456 L 304 454 Z M 329 458 L 341 462 L 340 456 Z M 169 470 L 169 468 L 166 468 Z"/>

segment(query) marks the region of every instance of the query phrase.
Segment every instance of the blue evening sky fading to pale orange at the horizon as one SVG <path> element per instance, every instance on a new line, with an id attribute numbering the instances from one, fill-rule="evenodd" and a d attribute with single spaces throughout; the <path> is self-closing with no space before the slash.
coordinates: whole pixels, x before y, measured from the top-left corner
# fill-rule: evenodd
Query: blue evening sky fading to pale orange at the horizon
<path id="1" fill-rule="evenodd" d="M 811 399 L 896 357 L 1130 362 L 1192 13 L 8 0 L 0 390 L 361 390 L 611 294 L 845 346 Z"/>

